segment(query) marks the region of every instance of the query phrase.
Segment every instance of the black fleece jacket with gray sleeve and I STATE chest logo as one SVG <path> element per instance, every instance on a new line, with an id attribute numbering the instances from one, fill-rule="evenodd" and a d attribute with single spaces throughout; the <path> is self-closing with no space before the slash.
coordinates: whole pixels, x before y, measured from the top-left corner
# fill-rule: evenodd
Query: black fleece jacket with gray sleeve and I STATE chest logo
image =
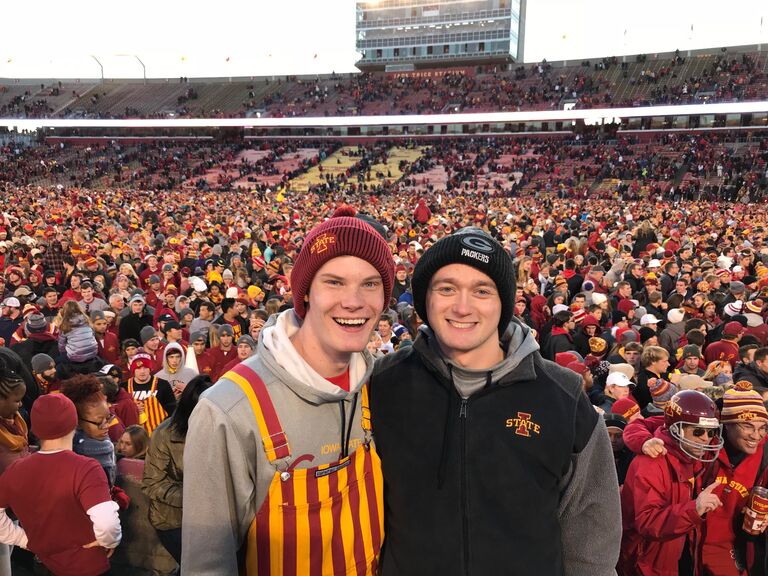
<path id="1" fill-rule="evenodd" d="M 463 400 L 429 335 L 370 383 L 382 574 L 614 575 L 613 452 L 580 378 L 534 352 Z"/>

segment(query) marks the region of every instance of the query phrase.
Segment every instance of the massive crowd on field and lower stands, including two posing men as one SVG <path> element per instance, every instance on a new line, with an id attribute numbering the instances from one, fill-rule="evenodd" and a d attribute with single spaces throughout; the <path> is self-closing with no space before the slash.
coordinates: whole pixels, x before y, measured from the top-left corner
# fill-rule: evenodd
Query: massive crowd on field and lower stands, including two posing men
<path id="1" fill-rule="evenodd" d="M 368 187 L 382 143 L 302 193 L 178 185 L 298 144 L 163 146 L 4 148 L 15 566 L 104 573 L 141 461 L 191 574 L 765 574 L 764 140 L 451 141 Z"/>

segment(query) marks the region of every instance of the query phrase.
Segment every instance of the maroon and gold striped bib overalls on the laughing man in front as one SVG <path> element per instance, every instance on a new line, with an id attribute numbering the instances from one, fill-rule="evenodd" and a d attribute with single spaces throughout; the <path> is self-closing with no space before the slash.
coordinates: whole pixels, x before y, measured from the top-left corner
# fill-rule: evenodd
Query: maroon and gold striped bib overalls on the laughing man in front
<path id="1" fill-rule="evenodd" d="M 364 442 L 337 462 L 291 470 L 288 438 L 259 375 L 240 364 L 224 378 L 248 397 L 267 459 L 275 467 L 248 530 L 244 573 L 375 575 L 384 533 L 383 478 L 371 443 L 367 384 L 362 389 Z"/>

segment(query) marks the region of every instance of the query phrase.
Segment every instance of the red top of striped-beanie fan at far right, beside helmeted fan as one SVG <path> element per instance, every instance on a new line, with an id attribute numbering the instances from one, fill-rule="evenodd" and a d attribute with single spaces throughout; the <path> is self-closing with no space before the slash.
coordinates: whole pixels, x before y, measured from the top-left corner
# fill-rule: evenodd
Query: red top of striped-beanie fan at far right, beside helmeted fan
<path id="1" fill-rule="evenodd" d="M 663 423 L 664 418 L 661 416 L 632 422 L 624 429 L 624 444 L 633 452 L 641 453 L 643 443 L 650 439 L 653 431 Z M 747 455 L 735 469 L 731 466 L 725 449 L 721 450 L 716 462 L 702 477 L 704 486 L 715 479 L 723 485 L 718 492 L 723 505 L 709 512 L 707 521 L 702 525 L 701 565 L 706 570 L 705 574 L 739 575 L 731 556 L 736 542 L 734 526 L 741 524 L 741 510 L 760 469 L 764 444 L 765 439 L 757 451 Z"/>

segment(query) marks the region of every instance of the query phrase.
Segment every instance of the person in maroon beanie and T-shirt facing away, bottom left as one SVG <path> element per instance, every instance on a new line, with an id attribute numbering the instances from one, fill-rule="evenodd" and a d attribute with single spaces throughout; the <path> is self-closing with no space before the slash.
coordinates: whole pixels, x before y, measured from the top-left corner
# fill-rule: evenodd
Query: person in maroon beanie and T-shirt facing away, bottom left
<path id="1" fill-rule="evenodd" d="M 0 476 L 0 542 L 29 549 L 57 576 L 104 574 L 122 537 L 118 506 L 99 463 L 72 452 L 75 405 L 63 394 L 41 396 L 31 419 L 40 451 Z"/>

